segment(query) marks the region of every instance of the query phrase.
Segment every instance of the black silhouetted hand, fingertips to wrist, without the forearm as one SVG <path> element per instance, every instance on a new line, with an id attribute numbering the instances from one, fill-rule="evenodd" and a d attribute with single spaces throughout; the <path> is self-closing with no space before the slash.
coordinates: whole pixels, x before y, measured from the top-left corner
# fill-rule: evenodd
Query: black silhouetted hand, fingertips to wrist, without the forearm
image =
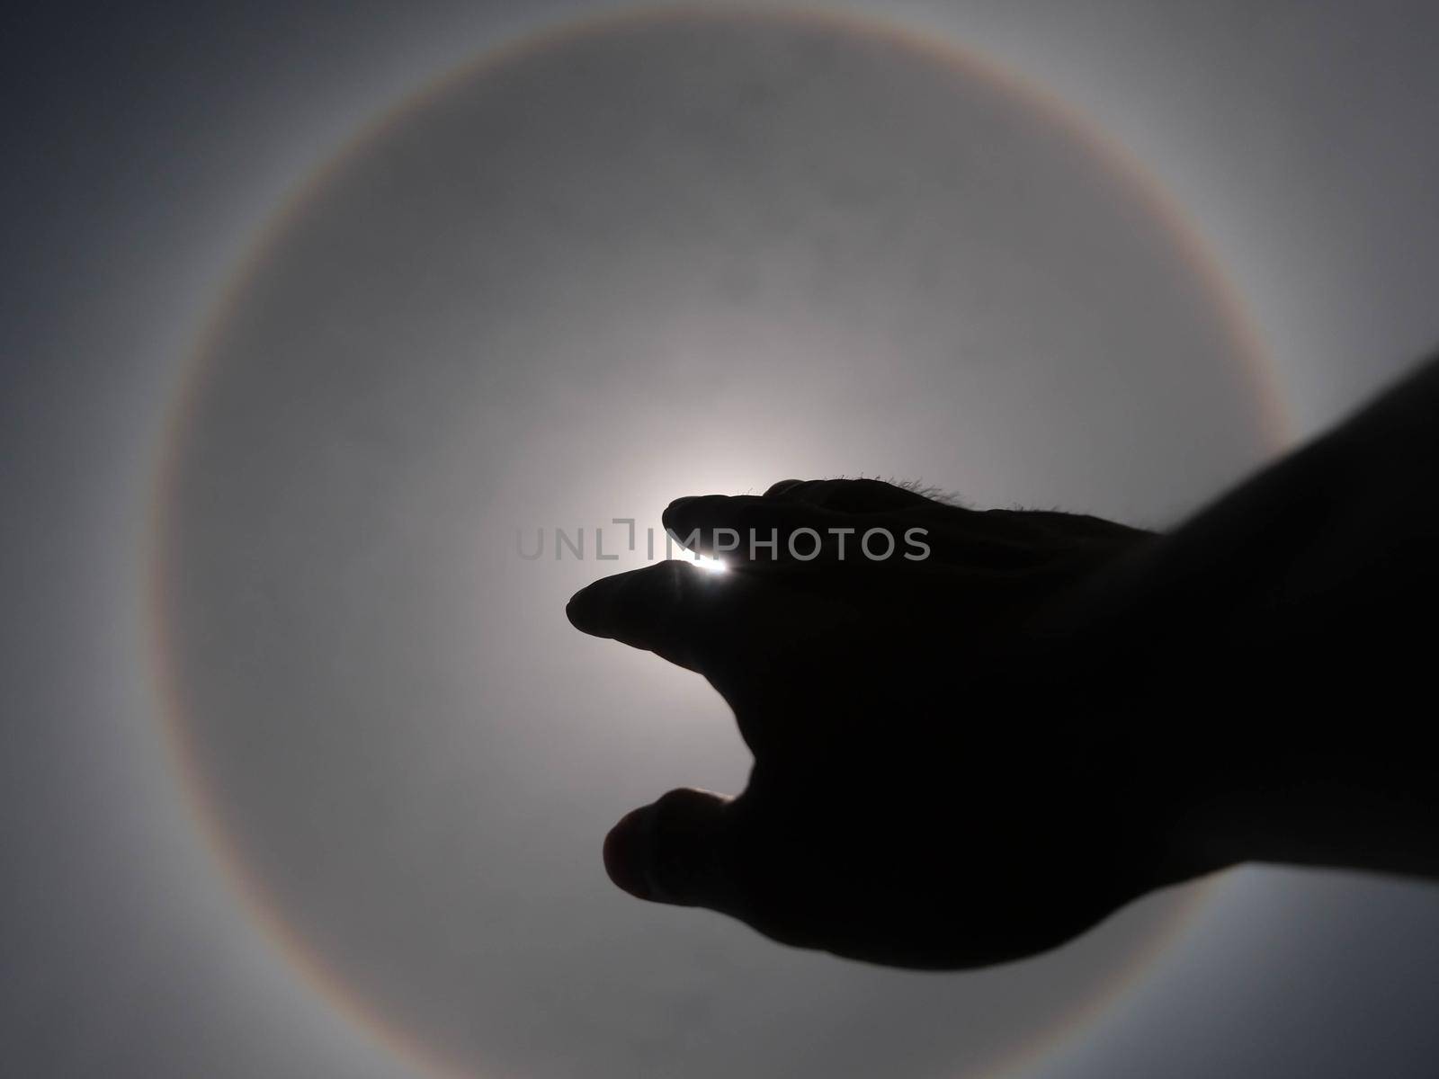
<path id="1" fill-rule="evenodd" d="M 1209 868 L 1167 843 L 1180 806 L 1134 762 L 1122 657 L 1035 632 L 1150 532 L 878 481 L 685 498 L 665 527 L 728 571 L 617 574 L 570 620 L 704 675 L 754 767 L 737 797 L 682 788 L 627 814 L 604 843 L 625 891 L 839 955 L 970 967 Z M 892 548 L 862 545 L 871 529 Z"/>

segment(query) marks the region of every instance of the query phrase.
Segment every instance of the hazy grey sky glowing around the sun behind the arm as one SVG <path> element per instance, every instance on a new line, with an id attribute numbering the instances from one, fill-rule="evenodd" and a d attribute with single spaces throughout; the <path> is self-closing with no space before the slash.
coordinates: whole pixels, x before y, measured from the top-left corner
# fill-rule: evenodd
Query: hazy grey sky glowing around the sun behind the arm
<path id="1" fill-rule="evenodd" d="M 698 679 L 566 624 L 626 563 L 514 537 L 842 472 L 1176 521 L 1439 337 L 1433 17 L 884 10 L 1150 180 L 823 20 L 571 33 L 353 140 L 578 10 L 12 36 L 7 1067 L 1427 1075 L 1430 888 L 1248 870 L 938 977 L 619 893 L 609 824 L 735 788 L 743 747 Z"/>

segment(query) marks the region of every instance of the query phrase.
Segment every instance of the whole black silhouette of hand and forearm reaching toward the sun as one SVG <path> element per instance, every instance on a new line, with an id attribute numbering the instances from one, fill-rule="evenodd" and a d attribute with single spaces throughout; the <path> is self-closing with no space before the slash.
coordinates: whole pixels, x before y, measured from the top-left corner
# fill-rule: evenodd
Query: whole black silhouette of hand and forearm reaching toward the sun
<path id="1" fill-rule="evenodd" d="M 614 826 L 633 895 L 957 968 L 1242 862 L 1439 876 L 1439 363 L 1164 535 L 878 481 L 665 525 L 738 534 L 730 571 L 617 574 L 570 620 L 705 676 L 754 767 Z M 927 557 L 871 560 L 871 529 Z"/>

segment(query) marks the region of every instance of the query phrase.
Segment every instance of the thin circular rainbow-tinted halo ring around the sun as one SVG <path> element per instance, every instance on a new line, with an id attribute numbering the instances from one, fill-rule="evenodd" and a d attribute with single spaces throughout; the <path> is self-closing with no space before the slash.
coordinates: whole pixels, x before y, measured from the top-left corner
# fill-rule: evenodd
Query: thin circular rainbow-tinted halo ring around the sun
<path id="1" fill-rule="evenodd" d="M 173 653 L 168 645 L 165 565 L 171 542 L 168 528 L 171 489 L 183 459 L 193 403 L 204 384 L 212 345 L 233 314 L 236 298 L 252 279 L 252 275 L 263 262 L 272 245 L 305 211 L 309 203 L 327 187 L 328 181 L 338 176 L 373 140 L 404 124 L 410 115 L 442 98 L 450 88 L 485 70 L 522 63 L 535 53 L 567 45 L 587 35 L 623 27 L 625 24 L 698 19 L 766 19 L 813 24 L 842 33 L 878 37 L 896 47 L 909 50 L 921 59 L 960 69 L 966 75 L 1043 114 L 1055 127 L 1069 134 L 1079 145 L 1105 163 L 1112 177 L 1124 190 L 1166 227 L 1187 269 L 1202 282 L 1210 301 L 1219 311 L 1236 352 L 1245 358 L 1245 374 L 1252 393 L 1259 401 L 1266 439 L 1275 450 L 1291 440 L 1291 424 L 1276 391 L 1272 365 L 1259 344 L 1250 318 L 1233 286 L 1168 193 L 1124 147 L 1112 141 L 1066 102 L 999 66 L 989 58 L 970 52 L 953 42 L 869 17 L 817 10 L 776 12 L 662 7 L 607 12 L 544 27 L 512 39 L 498 47 L 486 49 L 479 56 L 430 81 L 393 108 L 364 124 L 328 160 L 314 168 L 294 187 L 291 194 L 269 216 L 263 227 L 249 240 L 246 255 L 235 266 L 227 283 L 213 302 L 210 315 L 206 319 L 206 328 L 191 352 L 190 361 L 181 371 L 178 386 L 167 406 L 160 443 L 155 449 L 150 504 L 150 544 L 147 552 L 145 616 L 148 624 L 145 637 L 151 642 L 151 675 L 170 770 L 190 809 L 191 819 L 206 847 L 213 855 L 230 892 L 240 901 L 249 918 L 275 944 L 283 958 L 299 971 L 304 981 L 312 990 L 319 993 L 350 1020 L 358 1023 L 371 1037 L 383 1043 L 403 1062 L 432 1076 L 475 1079 L 476 1073 L 468 1066 L 462 1066 L 446 1057 L 440 1050 L 425 1044 L 414 1034 L 384 1016 L 373 1003 L 354 993 L 299 932 L 285 921 L 283 914 L 266 895 L 263 885 L 239 856 L 230 834 L 213 806 L 204 775 L 191 751 L 186 708 L 177 688 L 177 672 L 173 666 Z M 1102 1014 L 1132 991 L 1140 983 L 1140 975 L 1151 971 L 1158 958 L 1168 952 L 1171 945 L 1184 935 L 1184 931 L 1194 921 L 1194 914 L 1204 905 L 1204 899 L 1216 888 L 1217 885 L 1215 883 L 1196 888 L 1193 899 L 1181 908 L 1167 932 L 1161 934 L 1150 947 L 1143 950 L 1134 961 L 1115 971 L 1098 991 L 1092 993 L 1085 1001 L 1055 1021 L 1042 1037 L 1036 1037 L 1013 1050 L 1007 1059 L 991 1069 L 991 1075 L 997 1076 L 1022 1070 L 1026 1065 L 1046 1057 L 1089 1029 Z"/>

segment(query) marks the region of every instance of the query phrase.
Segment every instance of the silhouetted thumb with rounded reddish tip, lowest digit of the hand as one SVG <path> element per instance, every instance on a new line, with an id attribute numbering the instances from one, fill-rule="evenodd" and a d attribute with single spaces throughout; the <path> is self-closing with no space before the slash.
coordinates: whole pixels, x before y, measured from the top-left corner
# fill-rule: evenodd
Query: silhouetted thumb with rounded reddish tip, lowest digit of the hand
<path id="1" fill-rule="evenodd" d="M 735 800 L 684 787 L 626 813 L 604 837 L 604 870 L 630 895 L 735 911 Z"/>

